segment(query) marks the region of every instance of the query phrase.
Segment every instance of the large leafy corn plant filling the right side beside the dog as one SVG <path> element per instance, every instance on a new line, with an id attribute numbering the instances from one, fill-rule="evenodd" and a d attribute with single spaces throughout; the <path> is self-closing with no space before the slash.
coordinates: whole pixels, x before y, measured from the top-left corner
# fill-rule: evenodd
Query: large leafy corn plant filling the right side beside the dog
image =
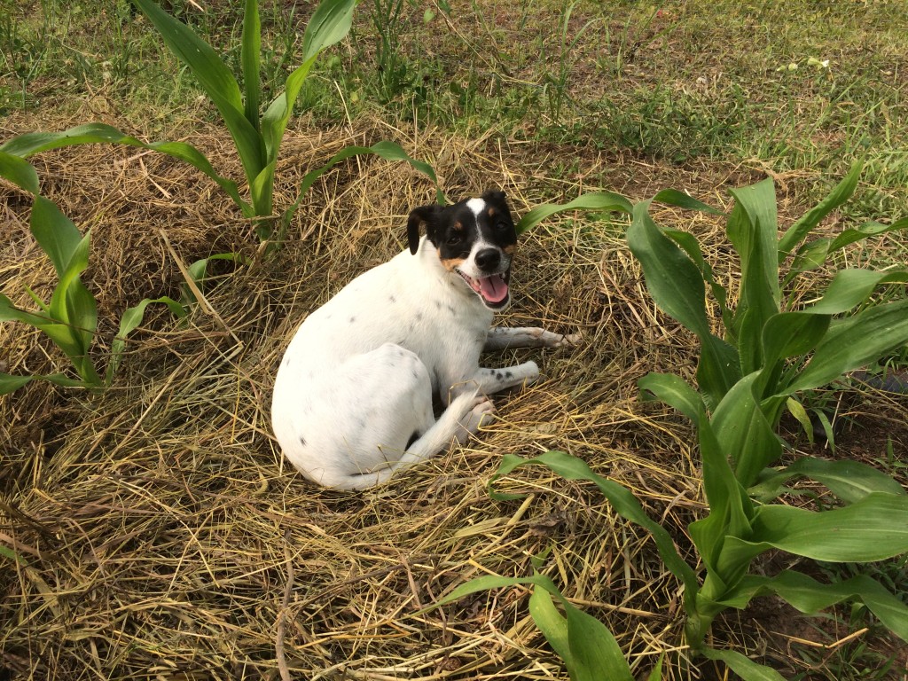
<path id="1" fill-rule="evenodd" d="M 709 511 L 687 529 L 702 566 L 699 573 L 686 564 L 666 530 L 646 516 L 627 489 L 597 476 L 580 459 L 557 451 L 536 459 L 508 455 L 496 474 L 498 478 L 519 466 L 536 463 L 564 478 L 593 481 L 619 515 L 650 532 L 666 568 L 684 585 L 686 643 L 692 651 L 725 662 L 746 681 L 782 677 L 735 650 L 707 646 L 706 634 L 723 610 L 744 608 L 764 594 L 775 594 L 808 614 L 842 601 L 862 602 L 884 626 L 908 641 L 908 607 L 871 577 L 859 575 L 821 583 L 796 570 L 776 575 L 758 575 L 751 570 L 754 560 L 772 549 L 850 563 L 908 552 L 908 494 L 883 472 L 856 461 L 810 457 L 774 468 L 784 450 L 775 427 L 785 406 L 797 413 L 795 398 L 800 392 L 828 384 L 908 342 L 908 300 L 896 297 L 868 303 L 878 286 L 908 281 L 906 271 L 838 271 L 818 300 L 804 306 L 797 306 L 794 296 L 785 295 L 788 284 L 823 265 L 837 250 L 908 226 L 908 220 L 890 225 L 868 222 L 831 239 L 809 239 L 824 216 L 852 195 L 859 173 L 860 167 L 855 166 L 781 238 L 770 181 L 733 192 L 735 208 L 728 217 L 726 233 L 738 254 L 741 271 L 738 304 L 734 307 L 728 302 L 729 291 L 714 278 L 696 239 L 687 232 L 660 228 L 649 216 L 654 200 L 716 211 L 678 192 L 661 192 L 629 211 L 629 204 L 620 197 L 609 207 L 607 192 L 567 204 L 572 209 L 631 212 L 627 241 L 641 262 L 647 290 L 663 311 L 696 333 L 700 341 L 696 388 L 668 374 L 653 373 L 639 381 L 646 398 L 663 400 L 697 427 Z M 540 206 L 528 213 L 521 227 L 528 229 L 565 207 Z M 789 269 L 781 271 L 780 265 L 789 259 Z M 722 337 L 712 332 L 707 289 L 721 312 L 725 328 Z M 800 477 L 824 485 L 838 504 L 830 510 L 813 511 L 772 503 L 790 491 L 786 483 Z M 548 577 L 539 577 L 480 577 L 455 589 L 445 601 L 478 587 L 514 583 L 535 585 L 534 597 L 540 587 L 560 596 Z M 562 601 L 566 616 L 553 615 L 554 608 L 549 608 L 538 617 L 532 607 L 531 615 L 565 660 L 573 681 L 603 677 L 601 672 L 607 667 L 601 666 L 605 664 L 601 659 L 589 662 L 593 660 L 590 646 L 598 646 L 604 651 L 600 654 L 608 657 L 608 677 L 630 678 L 617 646 L 594 643 L 595 639 L 606 640 L 599 631 L 603 626 L 573 616 L 572 606 L 563 597 Z M 654 670 L 654 675 L 657 673 L 658 669 Z"/>

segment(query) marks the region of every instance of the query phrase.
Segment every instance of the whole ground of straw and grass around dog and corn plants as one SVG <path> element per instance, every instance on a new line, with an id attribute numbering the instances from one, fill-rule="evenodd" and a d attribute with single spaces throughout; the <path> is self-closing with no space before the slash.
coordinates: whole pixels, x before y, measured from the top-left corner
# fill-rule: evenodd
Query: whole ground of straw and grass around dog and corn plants
<path id="1" fill-rule="evenodd" d="M 237 3 L 169 5 L 236 62 Z M 904 2 L 457 5 L 360 5 L 291 122 L 276 205 L 343 145 L 390 139 L 429 161 L 449 197 L 501 187 L 518 214 L 600 188 L 639 200 L 672 187 L 727 208 L 729 188 L 769 175 L 787 226 L 863 158 L 854 201 L 824 229 L 905 216 Z M 191 141 L 222 174 L 242 175 L 191 76 L 128 5 L 0 10 L 0 141 L 101 121 Z M 270 82 L 295 64 L 309 14 L 289 0 L 263 8 Z M 0 679 L 567 679 L 523 588 L 421 610 L 470 577 L 531 574 L 546 552 L 544 571 L 607 623 L 638 677 L 664 652 L 666 678 L 732 677 L 688 660 L 676 580 L 593 489 L 542 469 L 498 483 L 523 501 L 486 489 L 503 453 L 566 450 L 632 489 L 695 560 L 684 529 L 704 509 L 693 430 L 637 399 L 650 370 L 693 377 L 695 339 L 646 295 L 624 222 L 565 214 L 524 238 L 501 323 L 584 340 L 489 363 L 534 359 L 545 380 L 499 398 L 499 419 L 469 446 L 380 489 L 339 493 L 281 459 L 271 381 L 304 315 L 402 248 L 405 217 L 432 201 L 431 184 L 376 158 L 341 164 L 302 202 L 285 248 L 263 258 L 219 188 L 169 157 L 93 146 L 33 162 L 44 194 L 92 230 L 84 279 L 99 304 L 99 359 L 126 307 L 179 298 L 181 264 L 216 252 L 250 264 L 221 263 L 186 323 L 146 318 L 111 390 L 35 381 L 0 398 L 0 547 L 20 557 L 0 558 Z M 27 306 L 25 286 L 49 296 L 54 271 L 29 233 L 27 197 L 6 183 L 0 193 L 0 291 Z M 719 221 L 655 216 L 696 233 L 717 275 L 734 280 Z M 836 264 L 903 264 L 906 245 L 886 236 Z M 34 331 L 0 325 L 0 370 L 64 366 Z M 807 399 L 834 413 L 835 447 L 792 426 L 796 448 L 871 462 L 908 485 L 908 399 L 844 384 Z M 791 503 L 824 503 L 801 491 Z M 858 570 L 797 565 L 818 578 Z M 861 569 L 908 590 L 904 558 Z M 809 619 L 767 598 L 713 636 L 787 678 L 908 678 L 903 643 L 859 607 Z"/>

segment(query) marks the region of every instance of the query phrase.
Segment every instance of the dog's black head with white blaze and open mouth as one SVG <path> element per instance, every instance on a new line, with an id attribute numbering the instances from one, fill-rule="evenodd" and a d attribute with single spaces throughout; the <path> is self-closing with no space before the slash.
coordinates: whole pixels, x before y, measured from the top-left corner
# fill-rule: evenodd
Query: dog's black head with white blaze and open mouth
<path id="1" fill-rule="evenodd" d="M 444 207 L 422 206 L 411 212 L 407 237 L 414 254 L 419 249 L 422 223 L 446 270 L 457 272 L 489 310 L 508 307 L 517 232 L 504 192 L 489 191 L 479 199 L 465 199 Z"/>

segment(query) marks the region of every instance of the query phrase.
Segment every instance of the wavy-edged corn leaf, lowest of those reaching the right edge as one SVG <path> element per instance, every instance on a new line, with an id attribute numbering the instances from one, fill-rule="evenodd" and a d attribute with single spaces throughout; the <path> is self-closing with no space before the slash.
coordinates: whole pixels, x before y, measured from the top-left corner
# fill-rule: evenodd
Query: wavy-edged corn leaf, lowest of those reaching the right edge
<path id="1" fill-rule="evenodd" d="M 860 601 L 893 634 L 908 641 L 908 606 L 866 575 L 832 584 L 822 584 L 794 570 L 785 570 L 775 577 L 748 575 L 735 588 L 734 594 L 722 603 L 727 607 L 741 609 L 751 599 L 763 594 L 775 594 L 808 615 L 814 615 L 843 601 Z"/>

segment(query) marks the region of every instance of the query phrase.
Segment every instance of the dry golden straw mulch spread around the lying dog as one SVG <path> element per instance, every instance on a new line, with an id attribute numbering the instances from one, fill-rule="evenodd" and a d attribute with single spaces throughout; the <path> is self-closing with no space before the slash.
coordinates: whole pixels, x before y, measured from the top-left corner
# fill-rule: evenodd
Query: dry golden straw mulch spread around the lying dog
<path id="1" fill-rule="evenodd" d="M 551 180 L 546 169 L 565 150 L 369 123 L 289 133 L 276 204 L 341 146 L 382 138 L 433 163 L 451 198 L 500 186 L 518 214 L 589 183 L 635 197 L 667 186 L 657 168 L 595 156 L 583 178 Z M 191 139 L 239 175 L 225 135 L 200 124 Z M 471 577 L 532 574 L 531 558 L 547 551 L 543 571 L 611 627 L 637 674 L 678 646 L 679 585 L 646 534 L 591 486 L 525 469 L 498 483 L 523 500 L 493 501 L 486 489 L 505 452 L 567 450 L 634 490 L 689 552 L 681 528 L 702 508 L 692 431 L 641 404 L 636 380 L 660 368 L 689 376 L 695 348 L 656 315 L 622 224 L 566 216 L 523 240 L 500 323 L 584 340 L 488 361 L 534 359 L 545 380 L 499 396 L 498 420 L 469 446 L 379 489 L 340 493 L 282 459 L 271 382 L 305 315 L 400 251 L 407 213 L 432 200 L 428 181 L 378 159 L 341 165 L 313 187 L 286 247 L 264 259 L 229 200 L 182 163 L 106 147 L 36 163 L 45 192 L 92 230 L 84 279 L 99 301 L 101 369 L 126 307 L 180 295 L 181 263 L 232 251 L 251 264 L 216 266 L 185 323 L 150 308 L 112 389 L 34 382 L 0 398 L 0 546 L 18 557 L 0 571 L 0 676 L 567 678 L 528 617 L 525 588 L 422 609 Z M 716 186 L 696 173 L 680 180 L 669 183 Z M 28 233 L 28 202 L 0 191 L 0 287 L 28 305 L 24 284 L 49 296 L 53 270 Z M 11 323 L 0 325 L 0 362 L 15 373 L 65 367 L 44 338 Z M 683 656 L 672 657 L 678 668 Z"/>

